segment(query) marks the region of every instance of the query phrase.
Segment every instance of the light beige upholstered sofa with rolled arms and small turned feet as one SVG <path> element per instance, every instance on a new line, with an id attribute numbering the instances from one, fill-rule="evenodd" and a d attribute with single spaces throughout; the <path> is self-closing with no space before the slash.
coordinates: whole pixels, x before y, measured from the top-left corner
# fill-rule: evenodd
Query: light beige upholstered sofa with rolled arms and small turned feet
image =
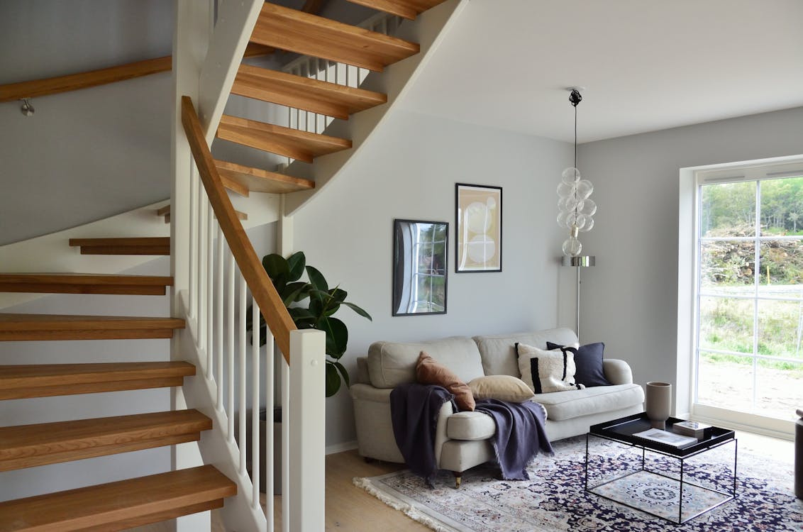
<path id="1" fill-rule="evenodd" d="M 420 343 L 376 342 L 367 357 L 357 359 L 357 382 L 351 386 L 357 444 L 362 457 L 403 463 L 390 421 L 390 392 L 399 384 L 415 382 L 415 364 L 426 351 L 464 382 L 475 377 L 521 377 L 516 343 L 541 349 L 547 342 L 577 342 L 570 329 L 559 328 L 512 335 L 455 336 Z M 592 424 L 643 412 L 644 392 L 633 384 L 630 366 L 623 360 L 603 359 L 611 386 L 536 395 L 532 400 L 547 412 L 546 433 L 551 441 L 585 434 Z M 441 408 L 436 425 L 435 460 L 439 469 L 460 473 L 494 458 L 489 438 L 495 424 L 482 412 L 453 412 L 450 402 Z"/>

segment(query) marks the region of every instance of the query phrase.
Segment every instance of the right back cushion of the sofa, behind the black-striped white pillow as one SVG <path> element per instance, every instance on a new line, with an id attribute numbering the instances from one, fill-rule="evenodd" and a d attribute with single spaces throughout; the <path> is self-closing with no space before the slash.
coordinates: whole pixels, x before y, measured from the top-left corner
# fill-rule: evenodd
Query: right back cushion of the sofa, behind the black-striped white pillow
<path id="1" fill-rule="evenodd" d="M 566 327 L 547 331 L 519 332 L 511 335 L 475 336 L 485 375 L 512 375 L 521 378 L 516 343 L 546 349 L 547 342 L 568 345 L 577 342 L 577 335 Z"/>

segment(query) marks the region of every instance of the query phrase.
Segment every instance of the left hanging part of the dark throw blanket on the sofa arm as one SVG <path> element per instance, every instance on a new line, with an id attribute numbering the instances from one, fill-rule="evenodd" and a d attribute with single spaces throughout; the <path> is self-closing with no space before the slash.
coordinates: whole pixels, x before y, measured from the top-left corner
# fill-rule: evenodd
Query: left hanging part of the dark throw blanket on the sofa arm
<path id="1" fill-rule="evenodd" d="M 441 386 L 401 384 L 390 392 L 393 437 L 410 471 L 432 485 L 435 465 L 435 426 L 438 412 L 454 396 Z M 457 407 L 454 406 L 454 410 Z"/>

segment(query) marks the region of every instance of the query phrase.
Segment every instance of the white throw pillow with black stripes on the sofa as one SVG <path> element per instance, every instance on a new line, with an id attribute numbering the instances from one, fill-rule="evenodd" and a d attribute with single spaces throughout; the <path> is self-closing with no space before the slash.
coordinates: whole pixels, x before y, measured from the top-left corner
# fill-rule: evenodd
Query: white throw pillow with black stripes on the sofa
<path id="1" fill-rule="evenodd" d="M 574 382 L 577 368 L 572 351 L 546 351 L 526 343 L 516 343 L 516 352 L 521 380 L 536 394 L 585 388 L 583 384 Z"/>

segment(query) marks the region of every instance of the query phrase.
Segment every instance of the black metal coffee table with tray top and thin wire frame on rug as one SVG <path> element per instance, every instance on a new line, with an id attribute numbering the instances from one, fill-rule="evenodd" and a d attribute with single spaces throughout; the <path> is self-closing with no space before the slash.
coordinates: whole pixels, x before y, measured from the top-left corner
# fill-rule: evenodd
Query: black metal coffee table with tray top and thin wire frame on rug
<path id="1" fill-rule="evenodd" d="M 677 418 L 671 417 L 666 420 L 666 430 L 672 432 L 672 425 L 682 421 Z M 665 443 L 661 443 L 658 441 L 651 441 L 647 440 L 642 437 L 634 436 L 635 433 L 640 433 L 642 431 L 648 430 L 651 428 L 650 420 L 647 419 L 646 413 L 641 414 L 634 414 L 633 416 L 626 416 L 622 417 L 618 420 L 607 421 L 605 423 L 595 424 L 589 428 L 589 433 L 585 435 L 585 490 L 589 493 L 594 493 L 600 497 L 605 497 L 611 501 L 619 502 L 625 506 L 629 506 L 634 510 L 641 510 L 648 514 L 655 515 L 659 518 L 666 519 L 669 522 L 673 522 L 675 524 L 681 524 L 687 522 L 691 518 L 695 518 L 700 514 L 704 514 L 705 512 L 716 508 L 724 504 L 725 502 L 731 501 L 734 497 L 736 497 L 736 459 L 737 459 L 737 444 L 736 444 L 736 437 L 734 437 L 734 433 L 732 430 L 728 430 L 727 428 L 719 428 L 719 427 L 711 427 L 706 430 L 706 433 L 702 438 L 699 438 L 696 444 L 689 445 L 683 449 L 679 449 L 674 445 L 669 445 Z M 641 469 L 636 471 L 631 471 L 630 473 L 624 473 L 618 477 L 613 479 L 606 480 L 601 482 L 597 485 L 589 486 L 589 439 L 590 437 L 597 437 L 603 438 L 605 440 L 616 441 L 623 445 L 630 445 L 635 447 L 636 449 L 641 449 L 642 451 L 642 464 Z M 696 484 L 695 482 L 689 481 L 687 477 L 684 477 L 683 466 L 684 462 L 691 458 L 695 457 L 699 454 L 705 453 L 710 451 L 711 449 L 715 449 L 721 445 L 727 445 L 729 443 L 733 444 L 733 489 L 731 492 L 724 492 L 720 491 L 719 489 L 712 489 L 710 487 L 706 487 L 703 485 Z M 646 469 L 645 467 L 645 455 L 646 451 L 650 451 L 650 453 L 658 453 L 666 457 L 675 458 L 680 462 L 680 475 L 679 477 L 673 477 L 661 471 L 655 471 L 653 469 Z M 632 475 L 640 475 L 645 478 L 649 478 L 650 476 L 657 476 L 663 478 L 669 478 L 675 482 L 679 483 L 679 493 L 675 497 L 673 497 L 673 501 L 670 503 L 675 503 L 678 505 L 678 518 L 669 518 L 666 515 L 656 514 L 654 511 L 650 511 L 646 509 L 644 506 L 635 506 L 634 504 L 630 504 L 626 502 L 624 497 L 616 498 L 615 489 L 613 492 L 605 493 L 605 489 L 613 489 L 617 482 L 622 481 L 626 477 L 630 477 Z M 632 480 L 632 479 L 631 479 Z M 605 486 L 608 486 L 605 488 Z M 693 487 L 690 487 L 693 486 Z M 703 508 L 698 508 L 696 510 L 692 510 L 692 513 L 689 515 L 683 515 L 683 489 L 695 489 L 695 490 L 705 490 L 709 492 L 714 500 L 710 506 L 705 506 Z M 698 492 L 701 493 L 701 492 Z M 720 497 L 721 496 L 721 497 Z M 631 502 L 633 499 L 630 499 Z"/>

